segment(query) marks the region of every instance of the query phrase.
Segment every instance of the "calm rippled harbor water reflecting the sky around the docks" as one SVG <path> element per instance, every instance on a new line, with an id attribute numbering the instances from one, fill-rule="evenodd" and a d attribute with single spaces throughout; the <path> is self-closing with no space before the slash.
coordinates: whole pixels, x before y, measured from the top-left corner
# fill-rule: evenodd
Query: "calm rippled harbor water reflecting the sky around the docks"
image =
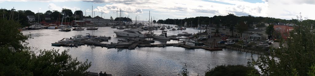
<path id="1" fill-rule="evenodd" d="M 170 25 L 172 26 L 172 25 Z M 187 69 L 191 75 L 204 75 L 207 65 L 214 68 L 216 65 L 246 65 L 251 53 L 233 51 L 223 49 L 223 51 L 207 51 L 203 49 L 186 49 L 180 47 L 164 47 L 164 48 L 135 48 L 133 50 L 121 48 L 101 48 L 95 46 L 80 46 L 80 47 L 54 47 L 51 43 L 57 42 L 62 38 L 69 38 L 76 34 L 86 35 L 90 33 L 95 36 L 111 36 L 108 42 L 117 42 L 117 39 L 125 39 L 125 37 L 117 37 L 114 31 L 117 30 L 110 27 L 99 27 L 98 30 L 70 31 L 60 32 L 58 29 L 41 29 L 41 30 L 25 30 L 23 34 L 31 34 L 33 39 L 29 39 L 28 46 L 38 49 L 70 49 L 68 52 L 73 58 L 78 58 L 80 61 L 92 62 L 92 66 L 87 70 L 90 72 L 105 71 L 114 76 L 170 76 L 177 75 L 181 72 L 181 68 L 187 64 Z M 187 28 L 182 31 L 168 31 L 168 36 L 177 35 L 181 32 L 197 33 L 200 30 Z M 142 33 L 146 33 L 144 31 Z M 161 30 L 154 30 L 155 34 L 161 34 Z M 152 40 L 152 38 L 147 38 Z M 178 43 L 177 40 L 155 40 L 157 43 Z M 35 50 L 35 49 L 33 49 Z M 253 54 L 257 59 L 257 54 Z"/>

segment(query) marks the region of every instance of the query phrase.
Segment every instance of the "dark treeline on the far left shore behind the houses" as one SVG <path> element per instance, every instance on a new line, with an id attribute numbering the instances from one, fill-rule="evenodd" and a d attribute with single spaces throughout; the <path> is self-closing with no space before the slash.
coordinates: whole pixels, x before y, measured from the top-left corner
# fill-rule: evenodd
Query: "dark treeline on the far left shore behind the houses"
<path id="1" fill-rule="evenodd" d="M 14 20 L 14 21 L 19 21 L 21 23 L 22 27 L 25 26 L 30 26 L 30 23 L 28 21 L 27 16 L 31 15 L 35 17 L 35 20 L 33 22 L 37 22 L 44 20 L 46 17 L 51 18 L 51 20 L 58 20 L 61 21 L 62 17 L 64 16 L 69 16 L 69 18 L 65 18 L 63 22 L 70 22 L 72 20 L 82 20 L 83 18 L 92 18 L 91 16 L 83 16 L 83 12 L 81 10 L 77 10 L 74 13 L 72 13 L 72 10 L 62 8 L 62 11 L 46 11 L 45 13 L 34 13 L 31 10 L 18 10 L 16 11 L 15 9 L 7 10 L 7 9 L 0 9 L 0 16 L 2 18 Z M 72 16 L 73 15 L 73 16 Z M 77 15 L 77 18 L 75 18 L 75 15 Z M 38 17 L 39 16 L 39 17 Z"/>

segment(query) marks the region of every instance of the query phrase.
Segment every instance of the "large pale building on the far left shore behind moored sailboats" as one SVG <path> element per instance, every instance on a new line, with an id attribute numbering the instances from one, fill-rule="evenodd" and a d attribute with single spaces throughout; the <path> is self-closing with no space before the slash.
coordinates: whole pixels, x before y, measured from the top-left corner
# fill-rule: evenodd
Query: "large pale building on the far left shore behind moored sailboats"
<path id="1" fill-rule="evenodd" d="M 89 21 L 97 26 L 106 26 L 111 20 L 96 16 L 94 18 L 83 18 L 83 21 Z"/>

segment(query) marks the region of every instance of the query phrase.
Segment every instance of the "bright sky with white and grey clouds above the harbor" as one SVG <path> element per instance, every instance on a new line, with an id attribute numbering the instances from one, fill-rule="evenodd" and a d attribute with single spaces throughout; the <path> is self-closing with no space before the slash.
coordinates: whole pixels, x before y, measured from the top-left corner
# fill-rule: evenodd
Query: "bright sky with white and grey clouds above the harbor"
<path id="1" fill-rule="evenodd" d="M 92 8 L 93 6 L 93 8 Z M 0 0 L 0 8 L 31 10 L 45 13 L 47 10 L 62 8 L 83 11 L 89 16 L 92 10 L 95 16 L 109 19 L 123 17 L 147 21 L 167 18 L 213 17 L 232 13 L 237 16 L 272 17 L 292 19 L 297 15 L 315 19 L 315 0 Z M 117 15 L 118 9 L 118 15 Z M 1 10 L 0 10 L 1 11 Z"/>

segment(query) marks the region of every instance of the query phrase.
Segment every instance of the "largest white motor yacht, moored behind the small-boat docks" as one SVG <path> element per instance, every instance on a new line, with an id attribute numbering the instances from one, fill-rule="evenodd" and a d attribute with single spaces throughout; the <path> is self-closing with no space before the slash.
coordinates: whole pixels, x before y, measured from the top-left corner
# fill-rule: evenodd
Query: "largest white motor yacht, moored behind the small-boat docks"
<path id="1" fill-rule="evenodd" d="M 146 38 L 145 34 L 140 33 L 136 30 L 124 30 L 124 31 L 115 31 L 117 36 L 124 36 L 124 37 L 139 37 L 139 38 Z"/>

